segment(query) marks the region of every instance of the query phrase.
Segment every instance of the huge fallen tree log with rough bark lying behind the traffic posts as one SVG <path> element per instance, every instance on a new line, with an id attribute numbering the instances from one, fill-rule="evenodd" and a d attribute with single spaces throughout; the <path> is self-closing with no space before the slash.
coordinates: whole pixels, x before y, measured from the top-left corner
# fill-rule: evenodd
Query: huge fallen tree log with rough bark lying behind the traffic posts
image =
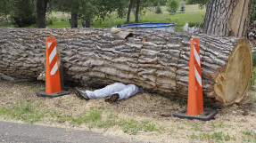
<path id="1" fill-rule="evenodd" d="M 37 78 L 45 67 L 45 38 L 54 36 L 65 81 L 135 83 L 186 98 L 192 37 L 200 40 L 204 101 L 240 102 L 251 79 L 252 49 L 244 38 L 110 28 L 0 31 L 0 75 L 14 78 Z"/>

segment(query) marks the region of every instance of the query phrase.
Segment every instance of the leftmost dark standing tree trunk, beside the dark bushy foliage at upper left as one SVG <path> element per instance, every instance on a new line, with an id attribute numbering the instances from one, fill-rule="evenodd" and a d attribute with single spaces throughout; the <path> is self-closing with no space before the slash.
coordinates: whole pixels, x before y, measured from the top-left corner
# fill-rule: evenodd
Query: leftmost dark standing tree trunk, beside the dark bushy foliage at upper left
<path id="1" fill-rule="evenodd" d="M 45 28 L 45 13 L 48 0 L 37 0 L 37 28 Z"/>

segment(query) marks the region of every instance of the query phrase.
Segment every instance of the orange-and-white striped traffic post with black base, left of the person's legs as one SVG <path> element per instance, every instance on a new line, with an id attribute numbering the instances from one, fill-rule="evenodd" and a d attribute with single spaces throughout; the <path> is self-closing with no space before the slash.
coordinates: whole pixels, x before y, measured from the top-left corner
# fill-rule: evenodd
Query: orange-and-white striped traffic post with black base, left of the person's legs
<path id="1" fill-rule="evenodd" d="M 68 94 L 68 91 L 62 91 L 56 39 L 47 37 L 45 40 L 45 92 L 38 92 L 37 96 L 56 97 L 65 94 Z"/>

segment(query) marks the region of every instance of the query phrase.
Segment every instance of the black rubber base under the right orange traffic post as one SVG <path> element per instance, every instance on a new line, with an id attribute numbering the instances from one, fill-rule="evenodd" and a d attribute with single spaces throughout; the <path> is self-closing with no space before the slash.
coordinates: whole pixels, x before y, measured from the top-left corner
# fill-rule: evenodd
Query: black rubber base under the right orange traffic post
<path id="1" fill-rule="evenodd" d="M 185 110 L 185 111 L 173 114 L 173 116 L 176 116 L 179 118 L 191 119 L 191 120 L 196 119 L 196 120 L 202 120 L 202 121 L 209 121 L 217 114 L 218 114 L 218 111 L 216 110 L 205 109 L 203 113 L 200 115 L 187 115 Z"/>

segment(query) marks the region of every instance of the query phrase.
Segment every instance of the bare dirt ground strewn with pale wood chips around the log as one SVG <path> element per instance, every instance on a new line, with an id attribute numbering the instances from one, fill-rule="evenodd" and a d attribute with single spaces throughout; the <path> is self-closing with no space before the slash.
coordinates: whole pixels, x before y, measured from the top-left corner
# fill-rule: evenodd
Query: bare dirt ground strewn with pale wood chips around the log
<path id="1" fill-rule="evenodd" d="M 40 102 L 40 107 L 47 110 L 60 110 L 66 114 L 82 115 L 91 108 L 104 108 L 119 119 L 152 121 L 164 127 L 165 131 L 138 131 L 135 135 L 121 130 L 120 126 L 110 128 L 92 128 L 87 124 L 73 126 L 71 123 L 40 122 L 37 124 L 53 125 L 70 130 L 90 130 L 101 132 L 105 136 L 120 137 L 128 140 L 145 142 L 256 142 L 256 93 L 247 91 L 241 105 L 215 108 L 218 115 L 211 121 L 179 119 L 172 114 L 186 108 L 186 101 L 166 98 L 153 93 L 140 93 L 117 103 L 106 103 L 104 99 L 78 99 L 70 89 L 70 94 L 57 98 L 37 97 L 36 92 L 44 89 L 42 82 L 0 80 L 0 107 L 13 107 L 20 101 L 31 104 Z M 85 87 L 80 87 L 86 89 Z M 162 116 L 168 113 L 170 116 Z M 103 112 L 103 117 L 107 112 Z M 0 115 L 1 120 L 4 115 Z M 15 121 L 21 122 L 21 121 Z M 222 131 L 222 132 L 221 132 Z M 219 135 L 222 139 L 217 139 Z M 254 136 L 253 136 L 254 133 Z M 208 137 L 205 139 L 204 137 Z M 226 138 L 231 138 L 225 140 Z"/>

